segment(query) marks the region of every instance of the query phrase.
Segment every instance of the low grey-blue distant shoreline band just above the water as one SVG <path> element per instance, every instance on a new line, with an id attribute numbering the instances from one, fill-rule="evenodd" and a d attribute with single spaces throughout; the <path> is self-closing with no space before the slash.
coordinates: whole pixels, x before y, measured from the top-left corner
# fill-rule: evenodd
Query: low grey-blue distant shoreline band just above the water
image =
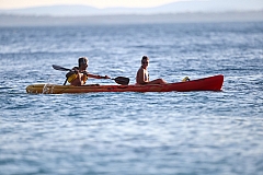
<path id="1" fill-rule="evenodd" d="M 0 27 L 4 26 L 71 26 L 96 24 L 158 24 L 199 22 L 263 22 L 263 10 L 244 12 L 194 12 L 163 14 L 125 14 L 93 16 L 48 16 L 0 14 Z"/>

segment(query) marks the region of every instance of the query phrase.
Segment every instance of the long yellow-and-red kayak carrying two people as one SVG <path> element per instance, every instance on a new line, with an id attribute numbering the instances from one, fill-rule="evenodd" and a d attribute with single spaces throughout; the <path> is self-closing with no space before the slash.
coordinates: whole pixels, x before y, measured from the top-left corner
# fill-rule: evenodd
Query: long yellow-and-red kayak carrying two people
<path id="1" fill-rule="evenodd" d="M 32 84 L 26 88 L 31 94 L 62 94 L 62 93 L 92 93 L 92 92 L 190 92 L 190 91 L 221 91 L 224 75 L 218 74 L 185 82 L 148 85 L 100 85 L 89 84 L 81 86 L 58 84 Z"/>

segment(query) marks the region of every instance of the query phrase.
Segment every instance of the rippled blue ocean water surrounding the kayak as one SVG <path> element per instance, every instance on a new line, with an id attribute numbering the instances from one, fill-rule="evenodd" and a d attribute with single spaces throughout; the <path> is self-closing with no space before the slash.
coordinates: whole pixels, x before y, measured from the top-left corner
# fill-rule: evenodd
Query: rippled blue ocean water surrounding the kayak
<path id="1" fill-rule="evenodd" d="M 66 68 L 224 74 L 221 92 L 26 94 Z M 0 174 L 263 174 L 263 23 L 0 27 Z M 115 84 L 89 79 L 88 83 Z"/>

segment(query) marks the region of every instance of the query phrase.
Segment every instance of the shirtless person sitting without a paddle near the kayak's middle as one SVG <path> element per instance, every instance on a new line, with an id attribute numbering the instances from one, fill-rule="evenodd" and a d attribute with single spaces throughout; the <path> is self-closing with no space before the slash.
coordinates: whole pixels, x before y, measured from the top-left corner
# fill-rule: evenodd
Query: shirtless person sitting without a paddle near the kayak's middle
<path id="1" fill-rule="evenodd" d="M 147 67 L 149 66 L 149 58 L 144 56 L 141 58 L 141 67 L 137 71 L 136 75 L 136 84 L 167 84 L 167 82 L 162 79 L 156 79 L 150 81 L 149 73 Z"/>

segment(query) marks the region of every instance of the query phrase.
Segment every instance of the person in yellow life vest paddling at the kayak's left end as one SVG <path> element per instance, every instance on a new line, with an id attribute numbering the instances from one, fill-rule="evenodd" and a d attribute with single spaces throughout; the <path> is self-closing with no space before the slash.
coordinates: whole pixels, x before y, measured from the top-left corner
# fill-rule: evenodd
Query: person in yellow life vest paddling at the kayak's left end
<path id="1" fill-rule="evenodd" d="M 84 85 L 88 78 L 111 79 L 107 75 L 102 77 L 102 75 L 91 74 L 87 72 L 88 63 L 89 63 L 89 60 L 87 57 L 80 57 L 79 67 L 72 68 L 72 71 L 66 74 L 67 81 L 70 83 L 70 85 Z"/>

